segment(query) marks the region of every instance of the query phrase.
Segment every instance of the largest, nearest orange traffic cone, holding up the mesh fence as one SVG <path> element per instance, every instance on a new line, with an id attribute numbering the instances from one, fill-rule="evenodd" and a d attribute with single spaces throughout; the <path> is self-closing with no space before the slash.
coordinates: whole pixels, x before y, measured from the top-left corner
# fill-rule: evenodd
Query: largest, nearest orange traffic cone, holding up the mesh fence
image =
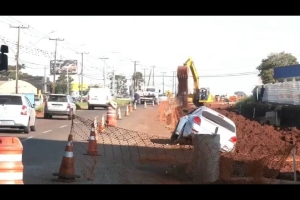
<path id="1" fill-rule="evenodd" d="M 68 144 L 65 148 L 65 155 L 61 161 L 59 172 L 53 173 L 53 176 L 58 176 L 56 181 L 59 182 L 74 182 L 75 178 L 80 178 L 80 176 L 75 175 L 73 137 L 71 134 L 68 137 Z"/>

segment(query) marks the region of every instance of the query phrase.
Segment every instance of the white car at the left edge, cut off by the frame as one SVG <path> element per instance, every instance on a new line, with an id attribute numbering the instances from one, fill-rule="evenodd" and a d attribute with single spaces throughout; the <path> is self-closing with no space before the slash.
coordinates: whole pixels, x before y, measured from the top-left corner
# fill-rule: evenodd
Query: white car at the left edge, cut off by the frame
<path id="1" fill-rule="evenodd" d="M 36 131 L 34 105 L 22 94 L 0 94 L 0 130 Z"/>

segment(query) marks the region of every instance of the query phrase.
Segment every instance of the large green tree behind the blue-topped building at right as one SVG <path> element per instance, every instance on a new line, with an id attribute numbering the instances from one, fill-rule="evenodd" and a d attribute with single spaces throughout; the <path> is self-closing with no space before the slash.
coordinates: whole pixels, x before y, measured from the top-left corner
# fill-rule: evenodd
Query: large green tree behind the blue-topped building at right
<path id="1" fill-rule="evenodd" d="M 297 58 L 290 53 L 271 53 L 267 58 L 262 59 L 261 64 L 256 68 L 259 71 L 263 84 L 275 83 L 274 68 L 299 64 Z"/>

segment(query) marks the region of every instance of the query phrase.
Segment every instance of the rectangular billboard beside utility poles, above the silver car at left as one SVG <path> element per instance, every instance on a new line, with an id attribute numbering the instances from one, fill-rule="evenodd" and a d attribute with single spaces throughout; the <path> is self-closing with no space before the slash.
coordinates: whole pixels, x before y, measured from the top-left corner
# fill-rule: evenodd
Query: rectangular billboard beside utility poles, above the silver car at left
<path id="1" fill-rule="evenodd" d="M 50 60 L 50 74 L 77 74 L 77 60 L 56 60 L 56 66 L 54 68 L 54 60 Z M 68 71 L 67 71 L 68 70 Z"/>

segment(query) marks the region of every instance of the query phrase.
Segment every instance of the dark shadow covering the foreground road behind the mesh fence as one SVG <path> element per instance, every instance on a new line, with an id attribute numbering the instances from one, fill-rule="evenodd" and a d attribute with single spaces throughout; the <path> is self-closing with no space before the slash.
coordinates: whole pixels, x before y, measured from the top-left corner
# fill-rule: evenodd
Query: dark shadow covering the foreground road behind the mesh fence
<path id="1" fill-rule="evenodd" d="M 128 145 L 126 141 L 116 141 L 100 135 L 97 145 L 100 155 L 89 156 L 84 155 L 87 153 L 88 136 L 73 138 L 75 171 L 81 176 L 75 184 L 192 183 L 187 175 L 179 175 L 178 171 L 174 171 L 176 166 L 191 162 L 191 149 L 166 148 L 151 144 Z M 52 173 L 58 172 L 66 145 L 67 141 L 35 138 L 24 142 L 24 183 L 54 183 L 52 180 L 55 177 Z"/>

